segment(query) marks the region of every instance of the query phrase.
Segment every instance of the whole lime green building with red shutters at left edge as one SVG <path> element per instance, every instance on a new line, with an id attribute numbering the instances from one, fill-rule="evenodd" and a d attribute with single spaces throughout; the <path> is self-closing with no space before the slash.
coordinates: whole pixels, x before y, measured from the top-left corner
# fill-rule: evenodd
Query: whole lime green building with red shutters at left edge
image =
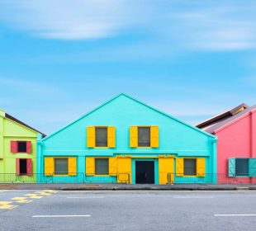
<path id="1" fill-rule="evenodd" d="M 38 134 L 39 131 L 0 110 L 0 181 L 26 181 L 36 176 Z"/>

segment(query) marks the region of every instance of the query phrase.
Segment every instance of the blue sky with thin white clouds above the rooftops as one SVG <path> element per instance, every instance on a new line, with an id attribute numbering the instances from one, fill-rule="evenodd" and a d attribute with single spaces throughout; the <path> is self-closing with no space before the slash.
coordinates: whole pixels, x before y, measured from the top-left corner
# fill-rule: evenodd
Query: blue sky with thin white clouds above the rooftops
<path id="1" fill-rule="evenodd" d="M 50 134 L 126 92 L 194 125 L 256 104 L 256 2 L 0 0 L 0 107 Z"/>

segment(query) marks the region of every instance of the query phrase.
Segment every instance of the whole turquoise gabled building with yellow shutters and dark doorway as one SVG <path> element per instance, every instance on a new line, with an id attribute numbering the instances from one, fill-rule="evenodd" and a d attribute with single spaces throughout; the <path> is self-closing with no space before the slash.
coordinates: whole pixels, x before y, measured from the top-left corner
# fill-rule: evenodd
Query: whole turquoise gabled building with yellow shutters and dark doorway
<path id="1" fill-rule="evenodd" d="M 216 174 L 216 136 L 126 94 L 37 144 L 45 181 L 167 184 Z"/>

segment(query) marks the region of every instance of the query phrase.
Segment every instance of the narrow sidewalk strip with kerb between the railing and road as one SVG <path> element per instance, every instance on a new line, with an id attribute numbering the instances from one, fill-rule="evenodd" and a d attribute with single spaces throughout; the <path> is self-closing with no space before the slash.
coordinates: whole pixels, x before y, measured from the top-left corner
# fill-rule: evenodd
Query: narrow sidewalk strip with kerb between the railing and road
<path id="1" fill-rule="evenodd" d="M 42 190 L 62 191 L 236 191 L 256 190 L 256 184 L 173 184 L 173 185 L 130 185 L 130 184 L 0 184 L 1 190 Z"/>

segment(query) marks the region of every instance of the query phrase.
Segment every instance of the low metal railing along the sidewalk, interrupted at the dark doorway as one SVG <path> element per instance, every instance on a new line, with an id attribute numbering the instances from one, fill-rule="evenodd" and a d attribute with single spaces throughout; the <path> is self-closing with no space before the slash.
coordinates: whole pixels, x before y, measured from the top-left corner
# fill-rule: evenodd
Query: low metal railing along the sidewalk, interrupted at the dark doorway
<path id="1" fill-rule="evenodd" d="M 195 176 L 167 173 L 168 184 L 256 184 L 256 177 L 229 177 L 225 173 L 206 173 Z M 131 183 L 130 173 L 119 173 L 117 176 L 87 176 L 84 172 L 56 172 L 53 175 L 33 173 L 31 175 L 17 175 L 16 173 L 0 173 L 0 183 Z"/>

